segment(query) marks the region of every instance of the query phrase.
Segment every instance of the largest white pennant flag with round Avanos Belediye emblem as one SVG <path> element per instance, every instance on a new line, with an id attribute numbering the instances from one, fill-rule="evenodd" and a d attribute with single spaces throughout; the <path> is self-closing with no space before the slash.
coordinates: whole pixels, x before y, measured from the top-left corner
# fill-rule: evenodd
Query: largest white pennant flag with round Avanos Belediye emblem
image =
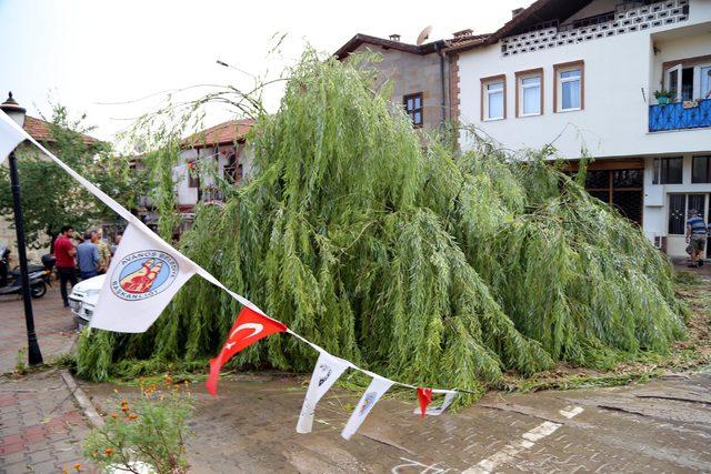
<path id="1" fill-rule="evenodd" d="M 144 332 L 196 270 L 162 240 L 129 224 L 107 271 L 90 326 Z"/>

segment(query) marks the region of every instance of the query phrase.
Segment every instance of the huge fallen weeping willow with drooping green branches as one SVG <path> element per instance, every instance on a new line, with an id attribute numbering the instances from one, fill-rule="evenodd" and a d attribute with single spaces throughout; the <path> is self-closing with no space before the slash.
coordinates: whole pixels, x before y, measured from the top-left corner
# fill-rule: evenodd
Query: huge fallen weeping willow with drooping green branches
<path id="1" fill-rule="evenodd" d="M 257 173 L 201 208 L 181 249 L 293 331 L 385 376 L 472 393 L 505 371 L 607 366 L 683 334 L 663 255 L 550 149 L 527 163 L 423 149 L 369 72 L 311 52 L 291 72 L 279 112 L 252 131 Z M 110 360 L 80 356 L 80 371 L 214 354 L 237 311 L 193 279 L 149 332 L 112 335 Z M 314 359 L 274 335 L 230 364 L 310 371 Z"/>

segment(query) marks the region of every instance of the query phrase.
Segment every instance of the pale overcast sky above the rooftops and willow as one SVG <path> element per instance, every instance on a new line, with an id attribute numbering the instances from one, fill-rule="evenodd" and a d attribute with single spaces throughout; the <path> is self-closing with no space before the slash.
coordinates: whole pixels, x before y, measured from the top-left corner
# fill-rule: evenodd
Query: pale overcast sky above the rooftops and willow
<path id="1" fill-rule="evenodd" d="M 49 113 L 50 99 L 61 102 L 87 113 L 98 127 L 93 135 L 111 139 L 163 95 L 138 99 L 194 84 L 253 83 L 217 59 L 252 74 L 277 72 L 307 43 L 332 53 L 358 32 L 414 42 L 428 24 L 431 40 L 464 28 L 490 32 L 530 3 L 0 0 L 0 94 L 4 100 L 11 90 L 33 115 Z M 287 39 L 281 54 L 268 57 L 274 33 Z M 271 109 L 280 93 L 269 92 Z M 207 124 L 230 118 L 226 113 L 213 111 Z"/>

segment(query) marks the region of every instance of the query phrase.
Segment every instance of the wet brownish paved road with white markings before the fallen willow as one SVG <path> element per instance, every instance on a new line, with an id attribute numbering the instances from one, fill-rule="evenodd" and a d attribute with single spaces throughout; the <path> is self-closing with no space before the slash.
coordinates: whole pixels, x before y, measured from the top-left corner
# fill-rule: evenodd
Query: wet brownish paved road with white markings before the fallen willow
<path id="1" fill-rule="evenodd" d="M 102 387 L 86 387 L 99 400 Z M 383 400 L 351 441 L 358 395 L 330 392 L 311 434 L 296 432 L 306 389 L 293 377 L 196 387 L 190 462 L 198 473 L 711 472 L 711 373 L 643 385 L 490 393 L 421 420 L 414 402 Z"/>

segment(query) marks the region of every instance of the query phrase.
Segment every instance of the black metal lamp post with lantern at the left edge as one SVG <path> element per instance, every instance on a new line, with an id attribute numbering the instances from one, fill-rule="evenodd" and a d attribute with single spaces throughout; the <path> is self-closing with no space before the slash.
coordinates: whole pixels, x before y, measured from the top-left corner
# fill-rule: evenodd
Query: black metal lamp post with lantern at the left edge
<path id="1" fill-rule="evenodd" d="M 12 92 L 8 95 L 0 110 L 7 113 L 20 127 L 24 125 L 24 113 L 27 112 L 19 103 L 12 99 Z M 20 259 L 20 281 L 22 282 L 22 301 L 24 303 L 24 324 L 27 326 L 27 346 L 30 365 L 42 363 L 42 353 L 37 342 L 34 332 L 34 315 L 32 314 L 32 297 L 30 295 L 30 279 L 27 270 L 27 253 L 24 250 L 24 225 L 22 223 L 22 202 L 20 200 L 20 178 L 18 175 L 18 163 L 14 151 L 8 157 L 10 165 L 10 184 L 12 188 L 12 203 L 14 206 L 14 231 L 18 236 L 18 256 Z"/>

